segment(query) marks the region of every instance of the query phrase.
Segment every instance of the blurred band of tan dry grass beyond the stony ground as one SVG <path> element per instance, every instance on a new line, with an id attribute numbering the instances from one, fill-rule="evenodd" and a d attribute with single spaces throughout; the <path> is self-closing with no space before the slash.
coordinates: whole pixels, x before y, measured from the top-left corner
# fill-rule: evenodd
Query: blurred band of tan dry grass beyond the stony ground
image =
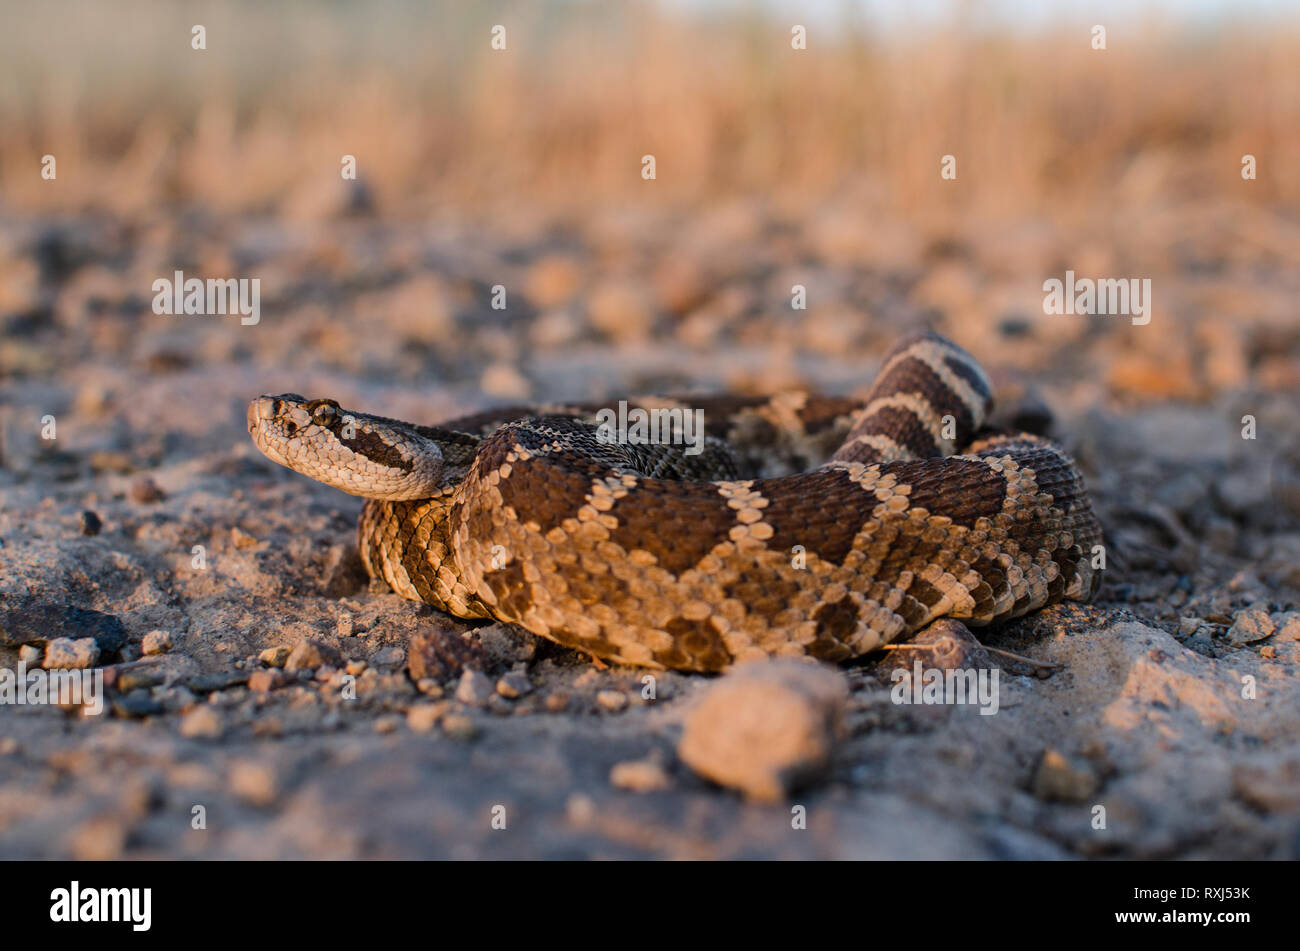
<path id="1" fill-rule="evenodd" d="M 760 192 L 946 216 L 1300 205 L 1300 32 L 922 38 L 647 4 L 13 3 L 0 201 L 312 216 L 356 155 L 393 216 Z M 208 49 L 190 49 L 190 25 Z M 493 23 L 510 49 L 489 48 Z M 835 35 L 832 35 L 835 34 Z M 40 156 L 58 160 L 56 184 Z M 1260 178 L 1240 178 L 1254 153 Z M 640 178 L 654 153 L 659 178 Z M 958 156 L 941 182 L 940 156 Z"/>

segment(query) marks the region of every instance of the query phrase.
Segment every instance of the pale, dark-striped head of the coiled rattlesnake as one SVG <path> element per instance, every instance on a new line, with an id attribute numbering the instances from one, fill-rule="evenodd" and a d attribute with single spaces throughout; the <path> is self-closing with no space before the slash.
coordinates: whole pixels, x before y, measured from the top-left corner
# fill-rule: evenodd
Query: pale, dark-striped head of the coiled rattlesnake
<path id="1" fill-rule="evenodd" d="M 273 463 L 365 499 L 426 499 L 442 488 L 443 456 L 420 427 L 354 413 L 298 394 L 248 404 L 248 434 Z"/>

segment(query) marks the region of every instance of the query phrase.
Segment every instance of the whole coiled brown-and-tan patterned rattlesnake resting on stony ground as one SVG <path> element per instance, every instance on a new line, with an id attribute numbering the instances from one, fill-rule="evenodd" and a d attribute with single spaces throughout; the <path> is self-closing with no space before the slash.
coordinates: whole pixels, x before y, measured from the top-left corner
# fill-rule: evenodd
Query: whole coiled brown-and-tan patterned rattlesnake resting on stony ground
<path id="1" fill-rule="evenodd" d="M 864 400 L 686 403 L 705 413 L 698 455 L 608 442 L 590 405 L 417 426 L 286 394 L 254 400 L 248 431 L 369 499 L 361 560 L 399 595 L 627 664 L 844 660 L 936 618 L 1096 590 L 1101 530 L 1075 464 L 982 431 L 988 378 L 937 334 L 901 342 Z"/>

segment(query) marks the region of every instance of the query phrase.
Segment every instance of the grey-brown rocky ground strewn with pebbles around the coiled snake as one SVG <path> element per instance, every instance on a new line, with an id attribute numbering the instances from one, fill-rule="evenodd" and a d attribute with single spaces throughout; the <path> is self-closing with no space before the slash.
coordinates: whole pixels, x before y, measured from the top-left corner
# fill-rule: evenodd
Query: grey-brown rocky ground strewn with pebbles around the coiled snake
<path id="1" fill-rule="evenodd" d="M 108 685 L 99 716 L 0 707 L 0 856 L 1300 857 L 1290 220 L 404 226 L 333 200 L 0 221 L 0 668 Z M 1152 322 L 1044 314 L 1067 266 L 1152 277 Z M 155 314 L 176 269 L 260 278 L 260 322 Z M 992 716 L 893 703 L 897 655 L 646 679 L 404 602 L 361 570 L 360 500 L 244 429 L 283 391 L 428 422 L 850 392 L 916 326 L 1076 453 L 1108 531 L 1095 604 L 980 633 L 1037 663 L 988 655 Z"/>

